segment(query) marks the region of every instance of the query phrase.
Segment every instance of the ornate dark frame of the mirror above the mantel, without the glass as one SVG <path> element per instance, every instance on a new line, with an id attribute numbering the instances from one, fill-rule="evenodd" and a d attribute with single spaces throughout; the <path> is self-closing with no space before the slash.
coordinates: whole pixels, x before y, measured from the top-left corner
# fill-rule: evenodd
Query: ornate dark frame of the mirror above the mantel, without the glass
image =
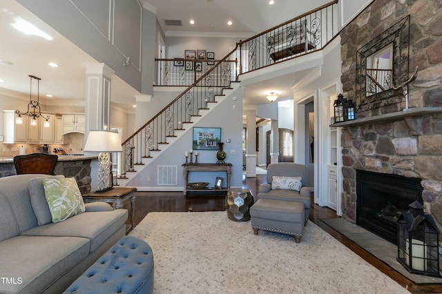
<path id="1" fill-rule="evenodd" d="M 367 96 L 367 59 L 392 46 L 392 77 L 390 88 Z M 410 55 L 410 15 L 395 23 L 356 51 L 356 105 L 358 117 L 380 115 L 399 110 L 401 92 L 392 87 L 408 79 Z M 391 57 L 390 57 L 391 58 Z"/>

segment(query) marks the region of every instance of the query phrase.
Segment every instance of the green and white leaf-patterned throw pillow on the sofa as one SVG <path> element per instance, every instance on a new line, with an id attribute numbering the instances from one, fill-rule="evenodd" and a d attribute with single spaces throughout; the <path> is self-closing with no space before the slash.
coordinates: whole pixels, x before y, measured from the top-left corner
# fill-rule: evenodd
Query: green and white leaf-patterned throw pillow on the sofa
<path id="1" fill-rule="evenodd" d="M 52 222 L 62 222 L 69 217 L 86 211 L 75 178 L 46 178 L 43 180 L 43 186 Z"/>

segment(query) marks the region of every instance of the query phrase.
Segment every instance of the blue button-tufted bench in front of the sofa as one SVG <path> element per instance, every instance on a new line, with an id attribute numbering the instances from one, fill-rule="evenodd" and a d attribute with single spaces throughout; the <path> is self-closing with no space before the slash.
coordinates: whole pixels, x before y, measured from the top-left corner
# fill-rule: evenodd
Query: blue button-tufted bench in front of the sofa
<path id="1" fill-rule="evenodd" d="M 64 293 L 152 293 L 153 253 L 146 242 L 125 236 Z"/>

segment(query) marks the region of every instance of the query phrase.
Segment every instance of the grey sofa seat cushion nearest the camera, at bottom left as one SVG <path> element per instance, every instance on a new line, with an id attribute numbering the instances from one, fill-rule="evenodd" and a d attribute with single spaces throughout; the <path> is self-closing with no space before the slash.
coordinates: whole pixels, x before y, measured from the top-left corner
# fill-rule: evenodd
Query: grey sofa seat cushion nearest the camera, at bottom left
<path id="1" fill-rule="evenodd" d="M 0 242 L 0 293 L 41 293 L 88 256 L 89 241 L 79 237 L 12 237 Z M 20 282 L 17 280 L 20 278 Z"/>

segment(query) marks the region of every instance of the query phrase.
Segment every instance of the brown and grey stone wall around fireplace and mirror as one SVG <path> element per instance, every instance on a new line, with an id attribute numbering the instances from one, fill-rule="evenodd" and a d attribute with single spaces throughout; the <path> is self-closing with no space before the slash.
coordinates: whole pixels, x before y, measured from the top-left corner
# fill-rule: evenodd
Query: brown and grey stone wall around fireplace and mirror
<path id="1" fill-rule="evenodd" d="M 375 0 L 349 23 L 340 33 L 344 97 L 354 99 L 356 50 L 410 14 L 410 71 L 419 66 L 410 108 L 442 107 L 441 8 L 438 0 Z M 441 114 L 346 126 L 342 134 L 346 219 L 356 220 L 356 169 L 361 169 L 421 178 L 425 210 L 442 228 Z"/>

